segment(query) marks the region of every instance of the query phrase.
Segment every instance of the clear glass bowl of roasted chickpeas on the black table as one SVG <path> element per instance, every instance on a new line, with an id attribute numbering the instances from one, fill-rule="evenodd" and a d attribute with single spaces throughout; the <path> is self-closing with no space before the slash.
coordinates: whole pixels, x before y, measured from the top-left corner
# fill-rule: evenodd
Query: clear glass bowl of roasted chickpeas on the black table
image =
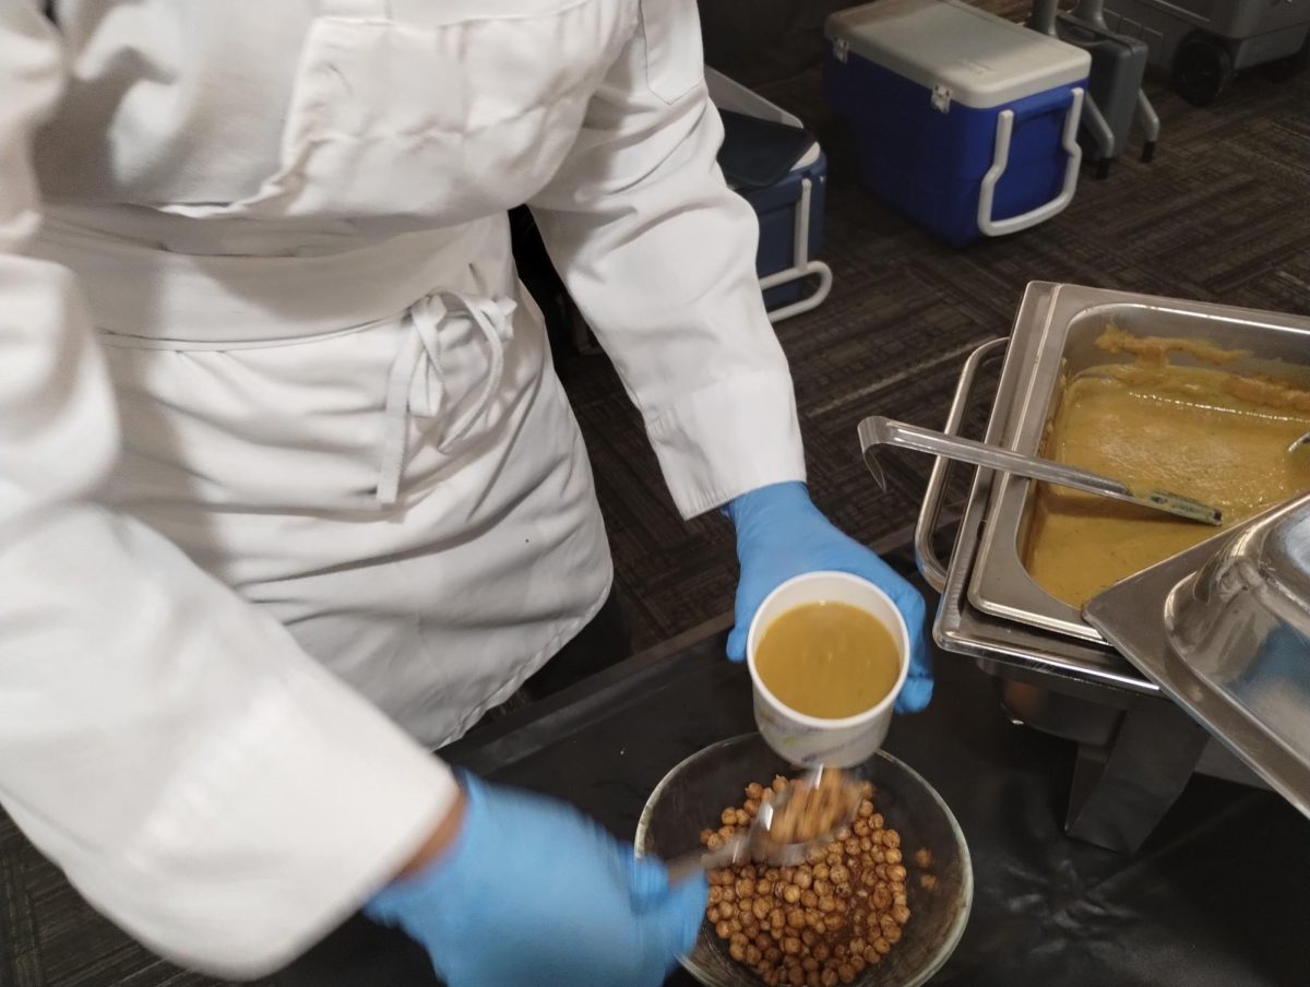
<path id="1" fill-rule="evenodd" d="M 673 857 L 735 835 L 794 771 L 758 734 L 692 755 L 647 801 L 638 852 Z M 846 773 L 861 786 L 853 819 L 796 866 L 709 874 L 706 921 L 683 958 L 706 987 L 917 987 L 955 949 L 973 893 L 955 818 L 886 752 Z"/>

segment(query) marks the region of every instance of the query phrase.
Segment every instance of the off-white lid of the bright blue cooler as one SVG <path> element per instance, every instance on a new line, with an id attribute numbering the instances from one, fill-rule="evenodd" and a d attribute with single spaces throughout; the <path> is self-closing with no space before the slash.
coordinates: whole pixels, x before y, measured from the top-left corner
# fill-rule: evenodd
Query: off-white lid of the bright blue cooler
<path id="1" fill-rule="evenodd" d="M 1091 55 L 960 0 L 879 0 L 840 10 L 824 33 L 929 89 L 989 109 L 1087 77 Z"/>

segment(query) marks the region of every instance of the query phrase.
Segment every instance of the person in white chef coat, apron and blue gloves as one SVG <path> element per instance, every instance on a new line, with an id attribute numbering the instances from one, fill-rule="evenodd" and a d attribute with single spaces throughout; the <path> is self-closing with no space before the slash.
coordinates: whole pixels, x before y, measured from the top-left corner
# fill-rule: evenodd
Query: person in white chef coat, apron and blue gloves
<path id="1" fill-rule="evenodd" d="M 720 136 L 694 0 L 0 4 L 0 802 L 122 928 L 250 978 L 355 916 L 452 987 L 689 948 L 703 882 L 430 751 L 610 590 L 523 202 L 736 526 L 730 657 L 811 569 L 922 623 L 806 494 Z"/>

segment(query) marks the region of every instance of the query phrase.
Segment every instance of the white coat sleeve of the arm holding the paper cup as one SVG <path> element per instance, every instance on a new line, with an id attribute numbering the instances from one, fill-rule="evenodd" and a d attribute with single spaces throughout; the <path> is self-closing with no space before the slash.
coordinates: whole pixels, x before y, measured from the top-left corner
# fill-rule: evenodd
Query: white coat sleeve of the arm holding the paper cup
<path id="1" fill-rule="evenodd" d="M 690 518 L 804 478 L 786 358 L 755 270 L 758 223 L 724 184 L 696 0 L 645 0 L 552 182 L 546 248 Z"/>

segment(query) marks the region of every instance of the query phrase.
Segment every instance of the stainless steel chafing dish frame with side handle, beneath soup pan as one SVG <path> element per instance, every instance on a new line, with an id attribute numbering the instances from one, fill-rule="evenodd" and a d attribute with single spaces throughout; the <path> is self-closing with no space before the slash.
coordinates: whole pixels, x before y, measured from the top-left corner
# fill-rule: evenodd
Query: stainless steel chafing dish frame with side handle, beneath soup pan
<path id="1" fill-rule="evenodd" d="M 1022 326 L 1041 324 L 1048 317 L 1058 287 L 1030 283 L 1011 337 L 984 343 L 969 355 L 943 431 L 960 430 L 979 371 L 1005 354 L 985 440 L 996 444 L 1013 440 L 1015 395 L 1026 367 L 1036 359 L 1040 341 Z M 1000 477 L 988 469 L 975 471 L 946 565 L 934 543 L 951 467 L 946 459 L 934 463 L 914 530 L 918 569 L 941 592 L 933 637 L 943 650 L 972 658 L 997 679 L 1002 706 L 1014 722 L 1078 745 L 1065 832 L 1100 847 L 1133 852 L 1193 772 L 1262 785 L 1246 764 L 1167 701 L 1154 683 L 1107 644 L 997 617 L 972 604 L 968 585 Z"/>

